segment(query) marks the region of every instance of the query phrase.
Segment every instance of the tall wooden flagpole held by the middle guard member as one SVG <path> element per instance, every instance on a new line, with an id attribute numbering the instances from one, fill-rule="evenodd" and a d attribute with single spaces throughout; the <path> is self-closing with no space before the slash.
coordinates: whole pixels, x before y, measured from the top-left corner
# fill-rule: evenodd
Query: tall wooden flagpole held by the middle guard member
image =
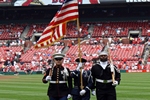
<path id="1" fill-rule="evenodd" d="M 78 31 L 78 44 L 79 44 L 79 61 L 80 61 L 80 63 L 81 63 L 79 18 L 77 18 L 77 31 Z M 80 68 L 80 76 L 81 76 L 81 90 L 82 90 L 82 89 L 83 89 L 82 68 Z"/>

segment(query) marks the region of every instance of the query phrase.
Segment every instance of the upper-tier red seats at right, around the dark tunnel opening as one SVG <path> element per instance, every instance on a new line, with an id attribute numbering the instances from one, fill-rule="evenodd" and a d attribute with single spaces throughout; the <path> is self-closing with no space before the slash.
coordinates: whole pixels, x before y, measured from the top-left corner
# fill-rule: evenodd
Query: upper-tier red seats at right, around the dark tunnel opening
<path id="1" fill-rule="evenodd" d="M 139 30 L 142 32 L 141 36 L 149 36 L 150 33 L 150 21 L 138 20 L 138 21 L 126 21 L 126 22 L 97 22 L 94 24 L 94 30 L 92 37 L 127 37 L 128 31 Z"/>

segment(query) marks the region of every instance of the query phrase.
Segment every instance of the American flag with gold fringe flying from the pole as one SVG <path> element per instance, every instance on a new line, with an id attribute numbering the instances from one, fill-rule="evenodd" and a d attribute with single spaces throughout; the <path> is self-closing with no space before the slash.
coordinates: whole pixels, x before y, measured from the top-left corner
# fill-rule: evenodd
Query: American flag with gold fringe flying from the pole
<path id="1" fill-rule="evenodd" d="M 79 18 L 77 0 L 65 0 L 50 24 L 43 31 L 35 48 L 48 47 L 64 37 L 69 21 Z"/>

